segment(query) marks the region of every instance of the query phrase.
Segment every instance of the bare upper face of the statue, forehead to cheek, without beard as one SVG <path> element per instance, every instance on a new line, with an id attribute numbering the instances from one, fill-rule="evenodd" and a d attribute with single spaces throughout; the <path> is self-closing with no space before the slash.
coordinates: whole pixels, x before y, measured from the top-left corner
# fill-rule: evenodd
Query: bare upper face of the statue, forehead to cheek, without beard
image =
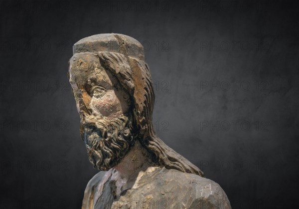
<path id="1" fill-rule="evenodd" d="M 108 119 L 127 113 L 129 95 L 118 80 L 101 66 L 92 54 L 78 54 L 70 65 L 70 83 L 76 99 L 77 110 L 84 105 L 91 113 Z M 82 91 L 82 100 L 79 99 Z"/>

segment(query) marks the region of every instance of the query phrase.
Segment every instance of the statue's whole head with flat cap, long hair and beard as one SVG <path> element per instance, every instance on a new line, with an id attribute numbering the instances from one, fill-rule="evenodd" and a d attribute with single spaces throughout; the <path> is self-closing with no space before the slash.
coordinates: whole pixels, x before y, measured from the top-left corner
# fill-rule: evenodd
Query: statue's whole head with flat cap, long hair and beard
<path id="1" fill-rule="evenodd" d="M 153 130 L 153 85 L 136 39 L 111 33 L 79 40 L 69 61 L 69 80 L 94 167 L 110 169 L 140 140 L 157 165 L 203 176 Z"/>

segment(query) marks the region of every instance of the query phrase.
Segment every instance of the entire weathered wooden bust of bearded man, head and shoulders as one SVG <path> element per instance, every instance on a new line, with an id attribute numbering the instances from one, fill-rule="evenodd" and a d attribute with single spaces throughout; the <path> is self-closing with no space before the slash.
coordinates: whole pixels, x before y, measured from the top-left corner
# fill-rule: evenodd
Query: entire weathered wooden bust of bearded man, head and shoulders
<path id="1" fill-rule="evenodd" d="M 230 209 L 221 187 L 154 132 L 154 88 L 140 42 L 86 37 L 69 63 L 89 161 L 107 171 L 88 183 L 83 209 Z"/>

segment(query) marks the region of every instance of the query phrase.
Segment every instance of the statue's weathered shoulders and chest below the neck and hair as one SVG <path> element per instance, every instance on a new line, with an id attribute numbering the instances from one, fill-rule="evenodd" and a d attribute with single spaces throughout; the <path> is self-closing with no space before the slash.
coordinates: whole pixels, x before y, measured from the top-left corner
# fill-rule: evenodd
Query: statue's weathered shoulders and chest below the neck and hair
<path id="1" fill-rule="evenodd" d="M 194 174 L 155 167 L 119 193 L 116 173 L 99 172 L 90 180 L 82 209 L 230 209 L 217 183 Z"/>

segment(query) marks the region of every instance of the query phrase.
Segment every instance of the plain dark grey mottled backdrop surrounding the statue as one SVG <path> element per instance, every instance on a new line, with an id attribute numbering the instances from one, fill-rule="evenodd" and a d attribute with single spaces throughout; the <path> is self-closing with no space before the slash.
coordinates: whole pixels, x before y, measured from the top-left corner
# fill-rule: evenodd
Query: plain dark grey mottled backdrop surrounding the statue
<path id="1" fill-rule="evenodd" d="M 233 209 L 298 205 L 299 13 L 293 1 L 0 1 L 0 208 L 81 207 L 96 174 L 67 81 L 72 45 L 146 49 L 158 136 Z"/>

